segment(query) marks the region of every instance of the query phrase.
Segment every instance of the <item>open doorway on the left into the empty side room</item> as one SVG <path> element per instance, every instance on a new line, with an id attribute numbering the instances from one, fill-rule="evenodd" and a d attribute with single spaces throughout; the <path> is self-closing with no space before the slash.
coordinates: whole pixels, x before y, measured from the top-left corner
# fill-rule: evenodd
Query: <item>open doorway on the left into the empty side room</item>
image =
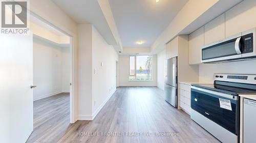
<path id="1" fill-rule="evenodd" d="M 38 139 L 38 132 L 41 135 L 51 134 L 55 125 L 65 131 L 70 123 L 74 123 L 73 37 L 33 13 L 30 16 L 30 31 L 33 33 L 35 88 L 34 131 L 28 141 L 33 142 Z"/>

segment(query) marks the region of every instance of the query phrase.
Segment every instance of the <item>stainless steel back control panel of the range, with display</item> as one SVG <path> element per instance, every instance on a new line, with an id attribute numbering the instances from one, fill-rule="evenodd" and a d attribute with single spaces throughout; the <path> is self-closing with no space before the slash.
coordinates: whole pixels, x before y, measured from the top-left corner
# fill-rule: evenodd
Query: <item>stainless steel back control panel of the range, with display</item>
<path id="1" fill-rule="evenodd" d="M 255 74 L 214 74 L 214 80 L 256 84 Z"/>

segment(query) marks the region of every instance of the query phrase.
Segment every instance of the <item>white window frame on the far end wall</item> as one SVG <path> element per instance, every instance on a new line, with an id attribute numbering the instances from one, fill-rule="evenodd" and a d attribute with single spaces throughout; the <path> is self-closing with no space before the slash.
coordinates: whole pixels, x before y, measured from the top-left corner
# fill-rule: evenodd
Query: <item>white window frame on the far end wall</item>
<path id="1" fill-rule="evenodd" d="M 151 63 L 151 79 L 148 79 L 148 80 L 130 80 L 130 78 L 128 79 L 129 81 L 153 81 L 153 55 L 150 55 L 150 54 L 146 54 L 147 56 L 151 56 L 152 58 L 152 63 Z M 134 75 L 132 74 L 131 75 L 131 58 L 130 57 L 134 57 L 134 69 L 135 69 L 135 73 Z M 140 56 L 140 55 L 129 55 L 129 77 L 132 76 L 132 77 L 135 77 L 137 76 L 137 56 Z"/>

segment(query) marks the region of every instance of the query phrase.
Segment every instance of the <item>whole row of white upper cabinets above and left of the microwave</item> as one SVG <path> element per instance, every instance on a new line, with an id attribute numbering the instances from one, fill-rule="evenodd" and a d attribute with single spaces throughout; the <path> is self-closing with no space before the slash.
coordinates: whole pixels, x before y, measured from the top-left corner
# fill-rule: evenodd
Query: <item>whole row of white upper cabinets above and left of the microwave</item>
<path id="1" fill-rule="evenodd" d="M 256 1 L 247 0 L 189 35 L 189 64 L 201 63 L 201 47 L 256 27 Z"/>

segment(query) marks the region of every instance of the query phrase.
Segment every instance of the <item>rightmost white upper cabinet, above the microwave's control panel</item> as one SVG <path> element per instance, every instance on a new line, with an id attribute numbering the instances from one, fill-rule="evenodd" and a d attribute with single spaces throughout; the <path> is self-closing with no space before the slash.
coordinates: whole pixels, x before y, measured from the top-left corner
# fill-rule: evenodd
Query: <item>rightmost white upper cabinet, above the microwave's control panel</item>
<path id="1" fill-rule="evenodd" d="M 226 37 L 256 27 L 256 1 L 243 1 L 226 12 Z"/>

